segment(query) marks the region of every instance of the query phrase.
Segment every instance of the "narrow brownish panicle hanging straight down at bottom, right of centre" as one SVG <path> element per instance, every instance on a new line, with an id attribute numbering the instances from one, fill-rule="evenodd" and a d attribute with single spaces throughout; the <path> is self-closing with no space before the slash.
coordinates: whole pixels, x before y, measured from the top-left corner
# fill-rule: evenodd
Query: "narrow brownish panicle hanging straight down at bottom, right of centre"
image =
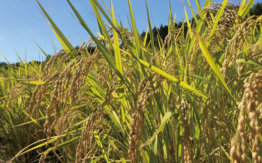
<path id="1" fill-rule="evenodd" d="M 190 163 L 192 162 L 192 151 L 191 151 L 191 147 L 190 147 L 190 139 L 189 139 L 189 126 L 188 126 L 188 122 L 187 122 L 187 118 L 186 118 L 186 110 L 188 110 L 188 106 L 189 104 L 187 103 L 187 101 L 182 101 L 181 102 L 181 118 L 182 118 L 182 122 L 183 122 L 183 149 L 184 149 L 184 162 L 185 163 Z"/>

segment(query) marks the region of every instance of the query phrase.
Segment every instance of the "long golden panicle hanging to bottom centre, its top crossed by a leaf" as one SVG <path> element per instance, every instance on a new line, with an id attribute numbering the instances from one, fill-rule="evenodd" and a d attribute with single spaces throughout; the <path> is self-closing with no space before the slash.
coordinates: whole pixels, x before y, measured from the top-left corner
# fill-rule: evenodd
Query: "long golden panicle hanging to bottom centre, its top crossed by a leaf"
<path id="1" fill-rule="evenodd" d="M 155 57 L 150 61 L 152 65 L 166 63 L 168 57 L 161 57 L 160 52 L 158 52 Z M 156 63 L 158 61 L 158 63 Z M 170 70 L 171 64 L 166 63 L 166 68 Z M 161 86 L 161 82 L 164 78 L 150 69 L 147 69 L 148 77 L 144 77 L 139 84 L 138 90 L 133 103 L 133 112 L 132 112 L 132 123 L 129 132 L 129 149 L 128 157 L 130 162 L 139 162 L 138 150 L 141 145 L 142 130 L 144 125 L 144 115 L 146 108 L 148 108 L 148 100 L 153 94 L 159 94 L 158 89 Z M 169 72 L 169 71 L 167 71 Z M 153 86 L 155 84 L 155 86 Z M 150 106 L 149 106 L 150 107 Z M 152 109 L 152 108 L 151 108 Z M 154 112 L 154 111 L 152 111 Z"/>

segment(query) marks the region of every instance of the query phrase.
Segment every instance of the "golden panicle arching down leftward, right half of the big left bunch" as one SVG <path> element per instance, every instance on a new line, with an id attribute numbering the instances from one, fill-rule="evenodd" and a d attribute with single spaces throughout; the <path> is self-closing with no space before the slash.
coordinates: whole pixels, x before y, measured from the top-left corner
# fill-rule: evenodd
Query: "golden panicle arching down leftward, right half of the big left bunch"
<path id="1" fill-rule="evenodd" d="M 54 93 L 50 101 L 50 106 L 54 106 L 55 120 L 51 125 L 53 129 L 62 135 L 65 130 L 67 130 L 71 124 L 69 122 L 76 118 L 77 112 L 74 114 L 69 114 L 70 109 L 81 102 L 81 91 L 80 89 L 85 85 L 85 79 L 87 78 L 89 68 L 91 64 L 96 63 L 98 56 L 94 55 L 91 57 L 79 58 L 73 64 L 69 64 L 67 68 L 64 69 L 63 73 L 60 73 L 58 79 L 55 81 Z M 71 77 L 71 70 L 76 66 L 73 77 Z M 69 88 L 68 85 L 71 85 Z M 70 99 L 70 104 L 66 105 L 68 99 Z M 59 103 L 62 103 L 62 115 L 60 116 Z M 50 135 L 50 133 L 48 133 Z M 55 148 L 58 145 L 59 139 L 57 139 Z"/>

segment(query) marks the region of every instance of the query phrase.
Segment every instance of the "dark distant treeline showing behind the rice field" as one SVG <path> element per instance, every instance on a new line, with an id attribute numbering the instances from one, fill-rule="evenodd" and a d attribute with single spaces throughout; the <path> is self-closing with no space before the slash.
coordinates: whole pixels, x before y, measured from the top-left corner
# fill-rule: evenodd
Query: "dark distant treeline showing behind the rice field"
<path id="1" fill-rule="evenodd" d="M 260 2 L 260 3 L 257 2 L 255 5 L 253 5 L 253 7 L 249 10 L 249 14 L 250 14 L 250 16 L 253 16 L 253 15 L 260 16 L 260 15 L 262 15 L 262 2 Z M 192 18 L 190 20 L 190 22 L 191 22 L 191 26 L 193 26 L 194 25 L 194 19 Z M 179 29 L 182 26 L 182 24 L 183 24 L 183 22 L 179 22 L 178 24 L 175 23 L 174 27 Z M 167 25 L 163 26 L 161 24 L 159 28 L 154 27 L 152 29 L 152 32 L 153 32 L 154 44 L 155 44 L 156 47 L 158 47 L 159 46 L 158 45 L 159 40 L 158 40 L 157 35 L 164 41 L 165 37 L 168 34 L 168 26 Z M 187 27 L 184 26 L 184 35 L 186 34 L 186 32 L 187 32 Z M 141 33 L 141 37 L 142 37 L 143 40 L 144 40 L 145 36 L 146 36 L 146 32 L 143 31 Z M 149 41 L 150 41 L 150 35 L 148 33 L 146 42 L 149 43 Z M 78 50 L 79 46 L 76 46 L 75 49 Z M 95 50 L 95 47 L 94 46 L 90 46 L 90 47 L 88 47 L 87 50 L 88 50 L 89 53 L 93 53 L 94 50 Z M 48 61 L 48 58 L 45 61 L 43 61 L 43 62 L 47 62 L 47 61 Z M 34 61 L 34 63 L 40 65 L 42 62 Z M 31 62 L 29 62 L 28 64 L 31 64 Z M 7 64 L 5 62 L 0 62 L 0 68 L 8 69 L 8 66 L 10 66 L 10 65 L 15 66 L 15 67 L 19 67 L 20 63 L 18 62 L 18 63 L 15 63 L 15 64 Z"/>

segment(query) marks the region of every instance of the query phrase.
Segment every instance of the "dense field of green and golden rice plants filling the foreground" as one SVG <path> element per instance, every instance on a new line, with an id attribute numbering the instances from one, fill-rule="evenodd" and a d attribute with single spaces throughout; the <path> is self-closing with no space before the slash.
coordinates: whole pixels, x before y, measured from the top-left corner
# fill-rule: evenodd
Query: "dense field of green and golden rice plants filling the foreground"
<path id="1" fill-rule="evenodd" d="M 197 1 L 194 22 L 185 11 L 179 29 L 170 10 L 164 40 L 146 8 L 144 41 L 130 1 L 125 29 L 112 2 L 91 0 L 97 34 L 68 1 L 92 37 L 78 50 L 38 3 L 63 49 L 41 65 L 1 69 L 0 160 L 260 162 L 262 19 L 249 16 L 253 2 Z"/>

